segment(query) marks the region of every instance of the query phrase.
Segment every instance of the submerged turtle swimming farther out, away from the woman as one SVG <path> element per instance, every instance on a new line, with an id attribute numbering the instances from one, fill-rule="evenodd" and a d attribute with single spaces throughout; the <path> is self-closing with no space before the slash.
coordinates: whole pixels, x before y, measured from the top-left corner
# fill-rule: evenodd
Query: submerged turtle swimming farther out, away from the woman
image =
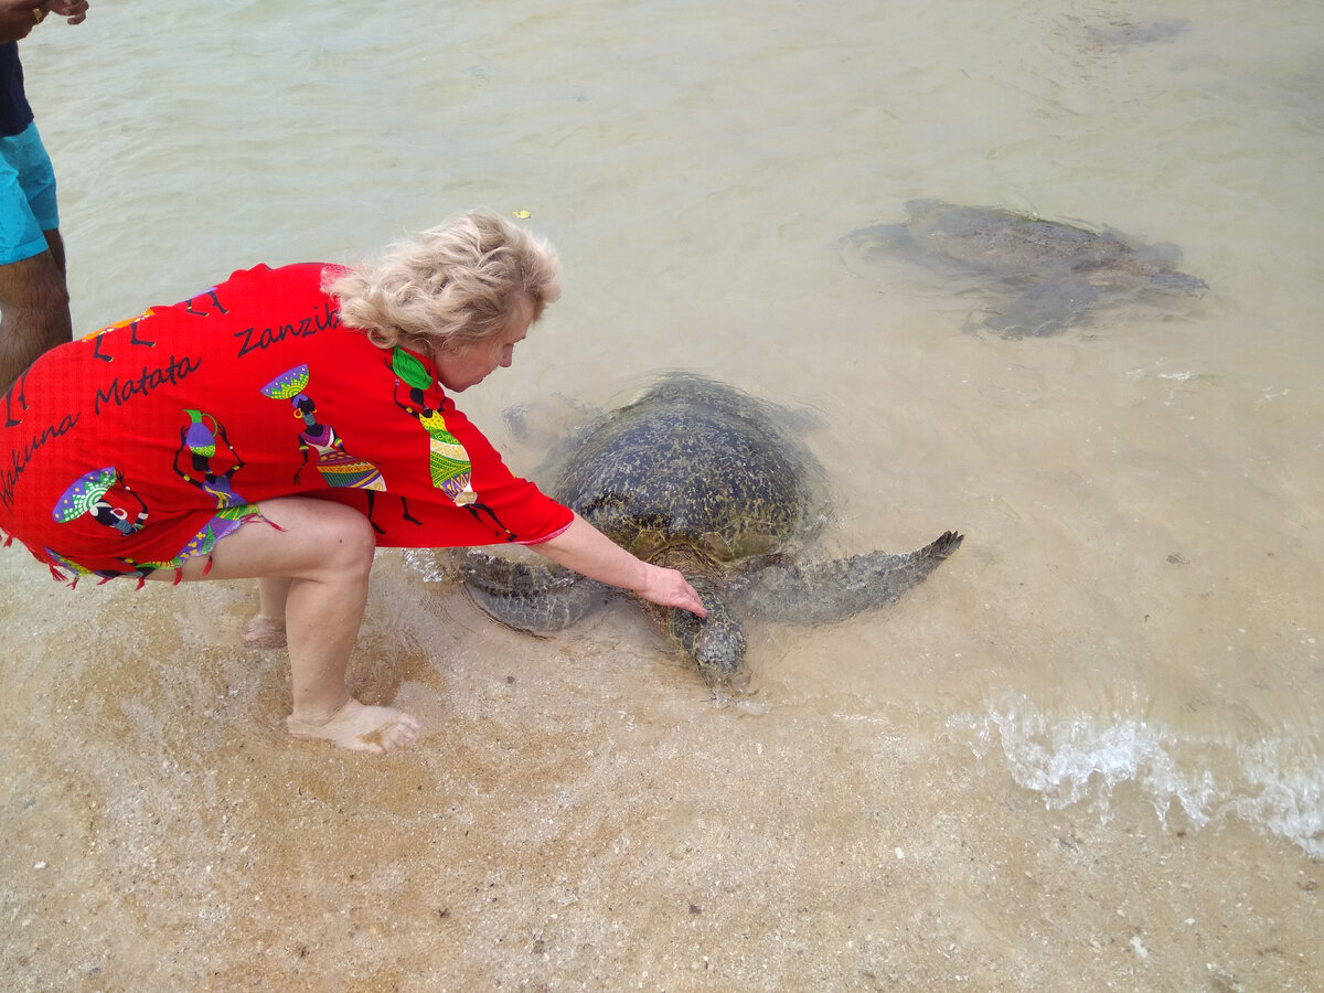
<path id="1" fill-rule="evenodd" d="M 1176 245 L 1136 246 L 1111 229 L 1090 230 L 992 207 L 912 200 L 904 224 L 862 228 L 842 238 L 847 265 L 876 265 L 903 254 L 953 278 L 989 279 L 1005 301 L 980 327 L 1004 338 L 1043 336 L 1083 323 L 1091 310 L 1127 301 L 1155 302 L 1155 291 L 1193 294 L 1202 279 L 1176 269 Z"/>

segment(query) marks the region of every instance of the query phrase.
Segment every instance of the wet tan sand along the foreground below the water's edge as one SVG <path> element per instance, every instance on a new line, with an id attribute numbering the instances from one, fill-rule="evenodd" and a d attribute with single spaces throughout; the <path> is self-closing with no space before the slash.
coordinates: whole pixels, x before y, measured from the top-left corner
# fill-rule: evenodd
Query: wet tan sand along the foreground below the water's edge
<path id="1" fill-rule="evenodd" d="M 629 612 L 535 642 L 384 553 L 352 685 L 425 737 L 371 760 L 285 739 L 281 653 L 228 647 L 242 585 L 77 596 L 77 630 L 28 614 L 45 650 L 3 711 L 15 988 L 1305 990 L 1324 969 L 1324 871 L 1287 842 L 1160 825 L 1125 785 L 1107 820 L 1050 810 L 903 704 L 719 708 Z"/>

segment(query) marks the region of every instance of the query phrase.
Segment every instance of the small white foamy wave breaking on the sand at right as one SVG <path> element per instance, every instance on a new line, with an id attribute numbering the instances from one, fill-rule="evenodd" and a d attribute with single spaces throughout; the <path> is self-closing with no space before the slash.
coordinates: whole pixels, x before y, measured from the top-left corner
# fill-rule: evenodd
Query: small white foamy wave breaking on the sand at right
<path id="1" fill-rule="evenodd" d="M 980 757 L 1000 744 L 1016 782 L 1053 809 L 1091 801 L 1107 821 L 1113 788 L 1135 782 L 1160 822 L 1176 802 L 1196 828 L 1238 817 L 1311 858 L 1324 858 L 1324 757 L 1317 741 L 1213 741 L 1135 718 L 1050 718 L 1025 696 L 1010 696 L 988 714 L 953 716 L 948 727 L 973 731 L 970 747 Z"/>

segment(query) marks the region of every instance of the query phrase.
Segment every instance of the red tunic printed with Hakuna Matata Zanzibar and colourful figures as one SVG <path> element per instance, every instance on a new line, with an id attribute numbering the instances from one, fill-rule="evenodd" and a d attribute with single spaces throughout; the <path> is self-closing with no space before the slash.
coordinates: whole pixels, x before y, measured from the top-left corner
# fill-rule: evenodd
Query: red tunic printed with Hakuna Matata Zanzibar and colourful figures
<path id="1" fill-rule="evenodd" d="M 324 267 L 238 271 L 46 352 L 0 400 L 0 531 L 75 577 L 177 568 L 275 496 L 356 507 L 383 545 L 564 531 L 429 360 L 340 323 Z"/>

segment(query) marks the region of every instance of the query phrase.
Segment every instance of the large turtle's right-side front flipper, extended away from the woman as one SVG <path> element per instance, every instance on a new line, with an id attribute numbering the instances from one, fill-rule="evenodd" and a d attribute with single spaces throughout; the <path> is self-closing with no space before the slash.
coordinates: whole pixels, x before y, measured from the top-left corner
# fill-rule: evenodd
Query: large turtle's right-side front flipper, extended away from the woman
<path id="1" fill-rule="evenodd" d="M 932 544 L 906 555 L 869 552 L 808 565 L 765 569 L 751 584 L 751 609 L 796 624 L 839 621 L 900 598 L 961 545 L 964 535 L 944 531 Z"/>

